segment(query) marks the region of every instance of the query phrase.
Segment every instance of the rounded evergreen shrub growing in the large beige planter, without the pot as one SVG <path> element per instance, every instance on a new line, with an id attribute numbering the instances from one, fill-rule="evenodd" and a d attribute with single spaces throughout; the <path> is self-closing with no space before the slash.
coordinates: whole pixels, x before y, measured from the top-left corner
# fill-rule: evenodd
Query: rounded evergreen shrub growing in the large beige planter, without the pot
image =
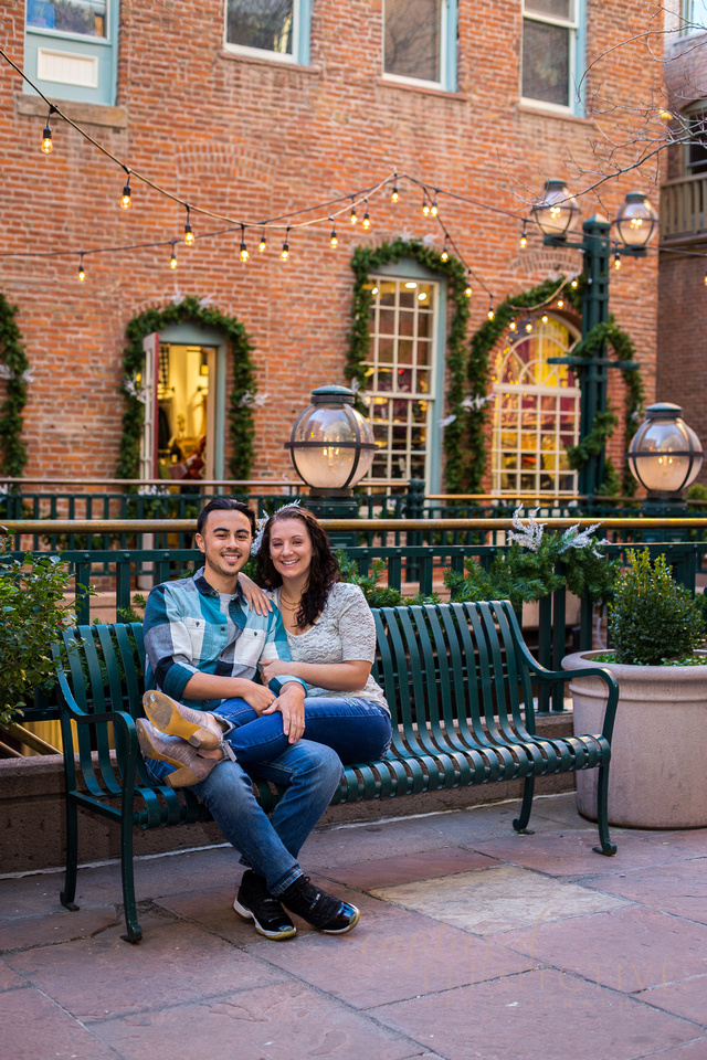
<path id="1" fill-rule="evenodd" d="M 662 666 L 688 659 L 705 639 L 700 601 L 675 581 L 663 553 L 653 563 L 647 549 L 627 558 L 631 565 L 616 579 L 609 605 L 613 661 Z"/>

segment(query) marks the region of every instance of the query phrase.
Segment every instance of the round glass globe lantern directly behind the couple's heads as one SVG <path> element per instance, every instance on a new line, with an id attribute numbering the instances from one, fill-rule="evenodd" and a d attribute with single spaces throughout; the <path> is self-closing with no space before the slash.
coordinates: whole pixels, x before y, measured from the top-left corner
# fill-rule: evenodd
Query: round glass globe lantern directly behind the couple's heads
<path id="1" fill-rule="evenodd" d="M 315 496 L 350 495 L 373 462 L 373 432 L 354 401 L 348 386 L 319 386 L 285 443 Z"/>

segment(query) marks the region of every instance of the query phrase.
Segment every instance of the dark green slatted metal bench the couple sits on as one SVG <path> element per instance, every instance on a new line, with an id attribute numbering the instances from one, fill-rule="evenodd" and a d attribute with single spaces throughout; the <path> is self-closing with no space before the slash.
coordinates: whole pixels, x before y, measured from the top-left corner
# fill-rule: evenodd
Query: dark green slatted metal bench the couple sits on
<path id="1" fill-rule="evenodd" d="M 574 674 L 535 661 L 508 601 L 383 607 L 373 615 L 379 644 L 373 674 L 391 706 L 392 746 L 380 761 L 348 766 L 333 804 L 523 778 L 514 827 L 525 833 L 536 776 L 599 768 L 600 846 L 594 850 L 615 854 L 606 791 L 619 689 L 608 670 L 582 670 L 609 686 L 603 731 L 540 738 L 535 734 L 534 683 L 552 686 Z M 73 648 L 72 639 L 77 642 Z M 80 626 L 64 634 L 55 651 L 65 651 L 59 679 L 67 820 L 61 901 L 76 908 L 78 809 L 115 820 L 120 827 L 124 937 L 138 942 L 134 828 L 184 825 L 205 820 L 208 814 L 188 788 L 156 785 L 140 759 L 135 719 L 143 713 L 141 625 Z M 256 781 L 255 791 L 265 809 L 279 797 L 265 782 Z"/>

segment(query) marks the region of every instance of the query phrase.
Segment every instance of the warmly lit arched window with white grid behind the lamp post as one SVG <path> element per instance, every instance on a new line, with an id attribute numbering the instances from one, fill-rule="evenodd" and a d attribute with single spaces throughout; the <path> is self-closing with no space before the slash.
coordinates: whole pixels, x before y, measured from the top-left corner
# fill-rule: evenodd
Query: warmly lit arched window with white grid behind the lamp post
<path id="1" fill-rule="evenodd" d="M 548 364 L 579 336 L 547 318 L 497 354 L 493 372 L 493 491 L 502 495 L 577 492 L 567 449 L 579 439 L 580 390 L 566 364 Z"/>

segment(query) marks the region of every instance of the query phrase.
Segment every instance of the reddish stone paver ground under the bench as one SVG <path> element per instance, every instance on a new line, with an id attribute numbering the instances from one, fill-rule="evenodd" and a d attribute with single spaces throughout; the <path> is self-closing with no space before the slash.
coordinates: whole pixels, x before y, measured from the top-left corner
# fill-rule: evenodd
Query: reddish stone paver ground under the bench
<path id="1" fill-rule="evenodd" d="M 424 802 L 420 804 L 424 809 Z M 572 795 L 315 833 L 349 935 L 272 943 L 231 908 L 228 847 L 0 878 L 0 1056 L 12 1060 L 707 1060 L 707 829 L 613 829 Z"/>

